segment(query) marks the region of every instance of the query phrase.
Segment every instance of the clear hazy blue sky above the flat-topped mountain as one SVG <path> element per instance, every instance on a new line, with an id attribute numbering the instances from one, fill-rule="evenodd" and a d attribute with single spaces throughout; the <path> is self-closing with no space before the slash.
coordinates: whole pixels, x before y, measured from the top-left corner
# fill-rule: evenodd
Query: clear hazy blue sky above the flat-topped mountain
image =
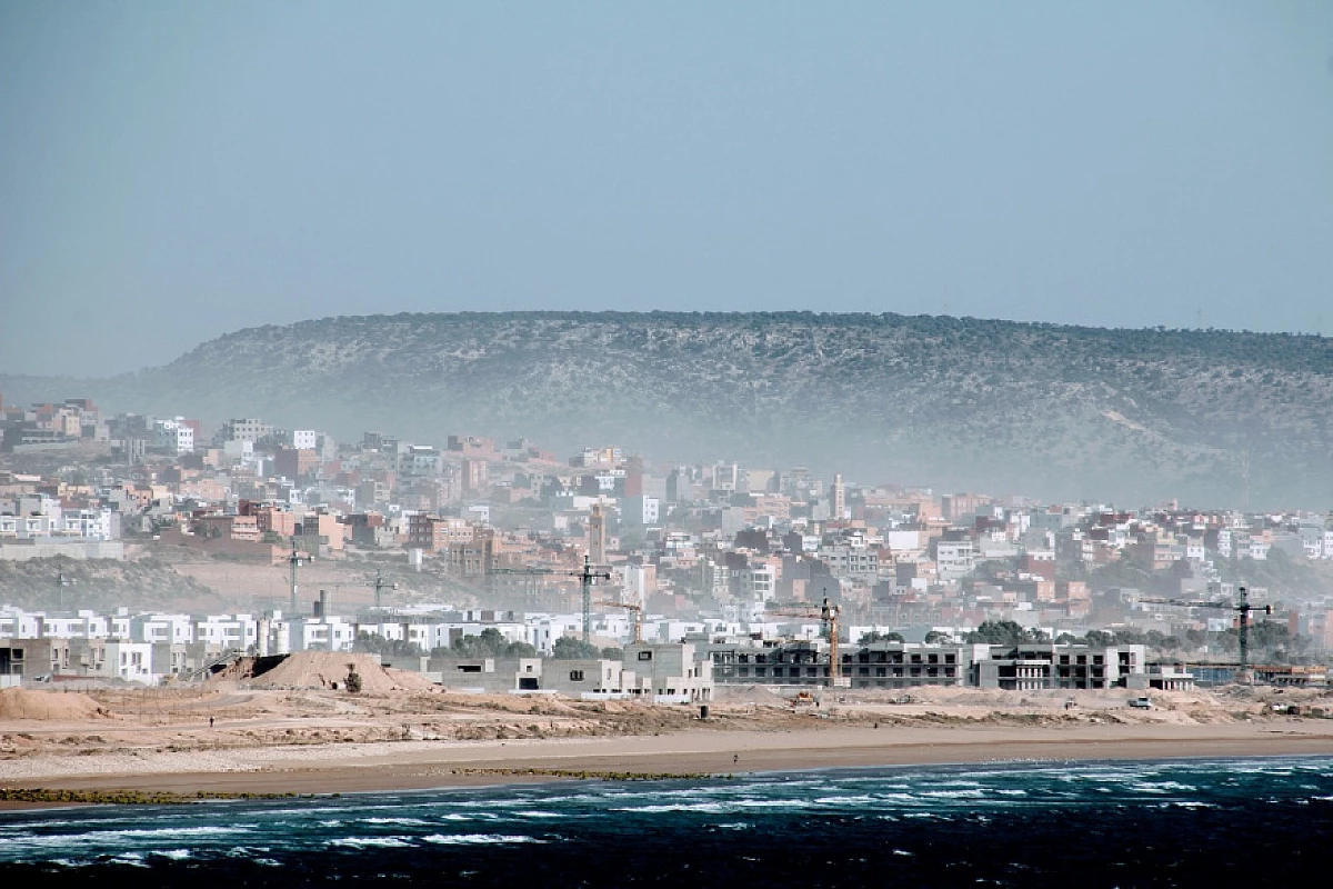
<path id="1" fill-rule="evenodd" d="M 0 372 L 532 308 L 1333 333 L 1333 3 L 0 0 Z"/>

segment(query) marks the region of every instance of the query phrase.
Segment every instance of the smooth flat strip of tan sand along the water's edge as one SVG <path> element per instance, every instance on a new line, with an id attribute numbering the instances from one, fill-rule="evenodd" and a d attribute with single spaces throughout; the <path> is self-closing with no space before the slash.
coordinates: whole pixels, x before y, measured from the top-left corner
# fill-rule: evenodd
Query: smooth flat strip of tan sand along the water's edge
<path id="1" fill-rule="evenodd" d="M 223 797 L 423 792 L 567 780 L 726 778 L 848 768 L 1333 756 L 1333 721 L 1070 728 L 820 728 L 267 746 L 0 761 L 0 788 Z M 0 801 L 0 810 L 69 802 Z M 84 805 L 76 802 L 75 805 Z"/>

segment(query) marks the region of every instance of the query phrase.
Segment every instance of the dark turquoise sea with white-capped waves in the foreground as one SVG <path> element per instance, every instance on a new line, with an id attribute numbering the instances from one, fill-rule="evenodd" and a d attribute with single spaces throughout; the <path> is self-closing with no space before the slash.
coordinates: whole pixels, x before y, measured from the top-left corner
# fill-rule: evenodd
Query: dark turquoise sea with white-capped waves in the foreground
<path id="1" fill-rule="evenodd" d="M 8 885 L 1333 885 L 1333 758 L 1032 762 L 0 814 Z"/>

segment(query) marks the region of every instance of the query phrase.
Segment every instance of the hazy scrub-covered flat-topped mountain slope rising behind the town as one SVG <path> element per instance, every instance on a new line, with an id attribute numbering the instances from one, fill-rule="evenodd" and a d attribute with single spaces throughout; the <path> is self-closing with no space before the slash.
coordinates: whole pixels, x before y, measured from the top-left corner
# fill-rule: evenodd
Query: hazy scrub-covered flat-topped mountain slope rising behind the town
<path id="1" fill-rule="evenodd" d="M 616 443 L 884 480 L 1333 506 L 1333 340 L 896 315 L 461 313 L 264 327 L 93 388 L 109 405 Z M 12 400 L 12 399 L 11 399 Z"/>

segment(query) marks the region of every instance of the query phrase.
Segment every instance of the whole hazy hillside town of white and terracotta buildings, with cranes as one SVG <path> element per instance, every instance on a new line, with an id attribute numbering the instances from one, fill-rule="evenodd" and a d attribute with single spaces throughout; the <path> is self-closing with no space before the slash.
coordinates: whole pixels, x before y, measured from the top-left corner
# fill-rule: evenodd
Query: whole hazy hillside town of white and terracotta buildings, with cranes
<path id="1" fill-rule="evenodd" d="M 1042 504 L 463 432 L 348 443 L 87 399 L 0 401 L 0 420 L 7 685 L 159 685 L 319 650 L 461 689 L 700 702 L 720 684 L 1324 685 L 1333 653 L 1325 514 Z M 204 610 L 81 597 L 80 565 L 145 554 L 271 580 Z M 345 580 L 303 582 L 316 566 Z"/>

